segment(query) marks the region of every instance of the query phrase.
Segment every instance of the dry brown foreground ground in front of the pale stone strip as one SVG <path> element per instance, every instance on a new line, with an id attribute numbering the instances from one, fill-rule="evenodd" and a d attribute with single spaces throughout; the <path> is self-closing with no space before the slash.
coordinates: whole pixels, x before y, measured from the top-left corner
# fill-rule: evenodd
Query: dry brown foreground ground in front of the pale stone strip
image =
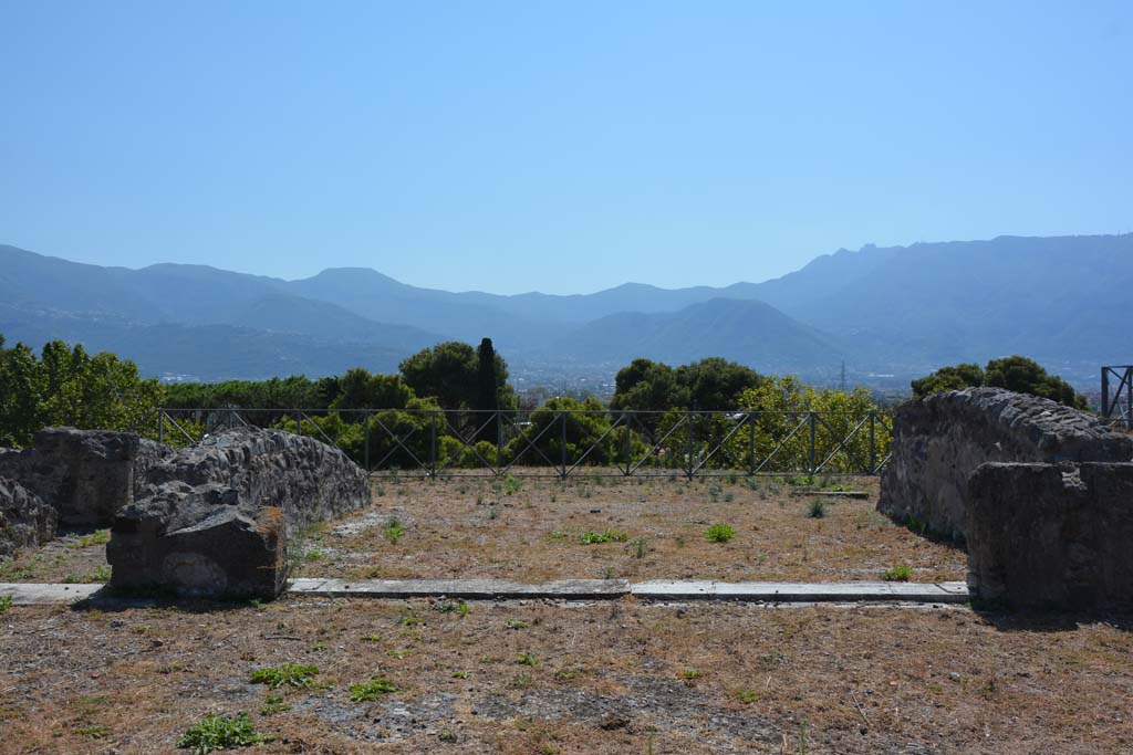
<path id="1" fill-rule="evenodd" d="M 186 752 L 240 711 L 273 738 L 240 752 L 265 755 L 1128 753 L 1130 627 L 632 599 L 14 607 L 0 753 Z M 249 680 L 288 662 L 312 686 Z M 397 690 L 351 702 L 375 677 Z"/>

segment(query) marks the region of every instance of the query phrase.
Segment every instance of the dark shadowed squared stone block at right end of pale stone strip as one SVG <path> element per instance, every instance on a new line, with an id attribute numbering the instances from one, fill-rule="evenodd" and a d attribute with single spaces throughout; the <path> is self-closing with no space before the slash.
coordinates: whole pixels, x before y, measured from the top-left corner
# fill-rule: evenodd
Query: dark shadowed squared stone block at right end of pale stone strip
<path id="1" fill-rule="evenodd" d="M 969 587 L 981 600 L 1133 606 L 1133 464 L 983 464 L 968 498 Z"/>

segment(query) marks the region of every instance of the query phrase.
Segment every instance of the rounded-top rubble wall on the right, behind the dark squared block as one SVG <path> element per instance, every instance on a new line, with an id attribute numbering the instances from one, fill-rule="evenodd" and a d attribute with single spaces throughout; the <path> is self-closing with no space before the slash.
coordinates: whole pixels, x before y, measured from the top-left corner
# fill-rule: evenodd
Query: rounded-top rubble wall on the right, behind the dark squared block
<path id="1" fill-rule="evenodd" d="M 968 388 L 910 401 L 894 412 L 892 456 L 878 511 L 965 539 L 968 478 L 986 462 L 1127 462 L 1133 441 L 1047 398 Z"/>

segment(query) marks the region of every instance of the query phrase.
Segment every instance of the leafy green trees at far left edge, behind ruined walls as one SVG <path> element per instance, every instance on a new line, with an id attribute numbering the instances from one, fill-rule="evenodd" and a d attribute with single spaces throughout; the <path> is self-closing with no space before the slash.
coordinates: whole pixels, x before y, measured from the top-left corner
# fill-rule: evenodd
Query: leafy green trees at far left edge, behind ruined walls
<path id="1" fill-rule="evenodd" d="M 3 344 L 0 336 L 0 446 L 27 446 L 51 426 L 145 430 L 162 403 L 156 380 L 143 380 L 134 362 L 111 353 L 92 357 L 52 341 L 36 359 L 24 344 Z"/>

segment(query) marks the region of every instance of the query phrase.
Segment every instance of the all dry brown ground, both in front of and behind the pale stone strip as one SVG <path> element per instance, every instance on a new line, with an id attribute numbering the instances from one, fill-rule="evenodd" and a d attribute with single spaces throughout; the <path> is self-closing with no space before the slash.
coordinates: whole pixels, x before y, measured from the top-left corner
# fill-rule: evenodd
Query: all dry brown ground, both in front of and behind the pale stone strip
<path id="1" fill-rule="evenodd" d="M 849 481 L 851 487 L 862 482 Z M 744 480 L 375 482 L 375 505 L 308 533 L 325 576 L 962 578 L 964 554 L 869 500 Z M 392 521 L 395 520 L 395 521 Z M 708 526 L 735 530 L 709 542 Z M 588 533 L 624 540 L 585 544 Z M 60 538 L 0 580 L 104 567 Z M 104 574 L 104 573 L 103 573 Z M 366 601 L 0 608 L 0 753 L 177 750 L 247 712 L 249 753 L 1126 753 L 1133 617 L 966 608 Z M 314 666 L 270 690 L 257 669 Z M 353 702 L 351 685 L 394 692 Z"/>

